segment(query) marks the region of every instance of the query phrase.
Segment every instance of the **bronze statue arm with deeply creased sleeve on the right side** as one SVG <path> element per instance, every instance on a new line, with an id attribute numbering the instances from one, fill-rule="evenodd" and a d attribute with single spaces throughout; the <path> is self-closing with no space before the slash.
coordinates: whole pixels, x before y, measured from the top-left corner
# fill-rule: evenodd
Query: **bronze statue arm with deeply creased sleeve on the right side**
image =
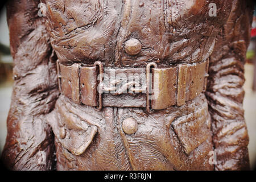
<path id="1" fill-rule="evenodd" d="M 212 118 L 216 170 L 249 169 L 243 111 L 244 64 L 250 42 L 253 1 L 233 1 L 226 24 L 210 56 L 206 96 Z M 218 16 L 218 15 L 217 15 Z M 216 17 L 217 18 L 217 17 Z"/>

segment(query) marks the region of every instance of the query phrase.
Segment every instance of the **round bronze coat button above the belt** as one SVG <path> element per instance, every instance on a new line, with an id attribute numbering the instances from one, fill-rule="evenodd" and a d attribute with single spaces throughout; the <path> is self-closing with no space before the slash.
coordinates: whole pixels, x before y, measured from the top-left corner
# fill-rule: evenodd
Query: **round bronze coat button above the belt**
<path id="1" fill-rule="evenodd" d="M 125 52 L 130 56 L 138 55 L 141 52 L 141 42 L 138 39 L 132 38 L 125 43 Z"/>

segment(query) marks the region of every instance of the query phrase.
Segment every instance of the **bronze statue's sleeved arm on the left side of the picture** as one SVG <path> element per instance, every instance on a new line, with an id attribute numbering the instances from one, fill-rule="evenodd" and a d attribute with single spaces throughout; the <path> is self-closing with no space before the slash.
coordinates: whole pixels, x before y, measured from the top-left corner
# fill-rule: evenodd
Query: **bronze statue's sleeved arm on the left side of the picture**
<path id="1" fill-rule="evenodd" d="M 54 168 L 54 136 L 46 123 L 46 114 L 54 108 L 59 96 L 56 56 L 45 19 L 38 16 L 39 3 L 38 0 L 7 3 L 14 86 L 2 161 L 13 170 Z"/>

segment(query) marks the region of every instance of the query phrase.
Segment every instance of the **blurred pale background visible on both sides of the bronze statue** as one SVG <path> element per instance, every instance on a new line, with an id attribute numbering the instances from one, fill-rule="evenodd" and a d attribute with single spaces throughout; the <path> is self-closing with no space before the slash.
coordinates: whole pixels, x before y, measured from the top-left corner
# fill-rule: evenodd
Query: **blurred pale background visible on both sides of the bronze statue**
<path id="1" fill-rule="evenodd" d="M 250 137 L 249 156 L 251 169 L 256 167 L 256 13 L 254 14 L 251 43 L 246 53 L 245 64 L 245 119 Z M 6 9 L 0 9 L 0 155 L 7 134 L 6 119 L 11 103 L 13 86 L 13 59 L 10 55 L 9 30 Z"/>

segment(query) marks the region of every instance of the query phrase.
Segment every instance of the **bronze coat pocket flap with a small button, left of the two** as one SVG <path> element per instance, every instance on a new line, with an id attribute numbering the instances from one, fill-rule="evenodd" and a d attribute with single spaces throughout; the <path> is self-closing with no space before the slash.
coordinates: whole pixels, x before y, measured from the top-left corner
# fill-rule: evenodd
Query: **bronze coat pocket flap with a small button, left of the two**
<path id="1" fill-rule="evenodd" d="M 55 137 L 73 155 L 83 154 L 96 136 L 97 126 L 81 120 L 65 107 L 57 106 L 52 114 L 55 119 L 52 119 L 50 125 Z"/>

